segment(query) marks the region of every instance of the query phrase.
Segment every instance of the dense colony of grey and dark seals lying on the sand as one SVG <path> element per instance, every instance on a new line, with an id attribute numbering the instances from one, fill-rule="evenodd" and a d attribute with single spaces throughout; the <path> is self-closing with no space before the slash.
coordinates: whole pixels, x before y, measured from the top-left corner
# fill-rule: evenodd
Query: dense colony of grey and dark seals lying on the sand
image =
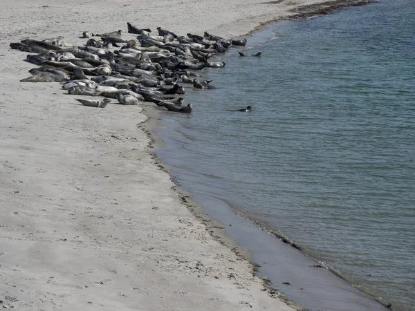
<path id="1" fill-rule="evenodd" d="M 246 39 L 228 40 L 208 32 L 203 36 L 187 33 L 185 37 L 158 27 L 158 35 L 154 35 L 151 29 L 131 23 L 127 23 L 127 30 L 130 37 L 137 36 L 127 39 L 122 30 L 97 35 L 84 31 L 81 37 L 88 39 L 84 46 L 71 46 L 61 36 L 42 41 L 24 39 L 11 43 L 10 48 L 37 53 L 27 55 L 26 62 L 40 67 L 30 69 L 32 75 L 21 82 L 60 82 L 68 94 L 105 97 L 76 99 L 85 106 L 105 108 L 113 98 L 117 104 L 146 101 L 168 111 L 191 113 L 193 105 L 182 107 L 183 97 L 176 97 L 185 94 L 179 82 L 201 90 L 215 89 L 211 80 L 201 79 L 200 71 L 223 68 L 225 62 L 209 59 L 232 45 L 246 45 Z"/>

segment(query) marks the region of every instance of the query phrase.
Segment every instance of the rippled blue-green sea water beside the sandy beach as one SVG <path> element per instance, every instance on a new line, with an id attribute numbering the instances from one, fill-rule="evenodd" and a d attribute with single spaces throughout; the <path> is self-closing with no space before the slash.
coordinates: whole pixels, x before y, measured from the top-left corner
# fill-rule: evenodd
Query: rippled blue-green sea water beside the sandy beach
<path id="1" fill-rule="evenodd" d="M 230 49 L 201 72 L 216 90 L 187 89 L 192 115 L 161 113 L 158 156 L 225 225 L 232 209 L 415 310 L 414 1 L 282 21 L 241 50 L 263 56 Z"/>

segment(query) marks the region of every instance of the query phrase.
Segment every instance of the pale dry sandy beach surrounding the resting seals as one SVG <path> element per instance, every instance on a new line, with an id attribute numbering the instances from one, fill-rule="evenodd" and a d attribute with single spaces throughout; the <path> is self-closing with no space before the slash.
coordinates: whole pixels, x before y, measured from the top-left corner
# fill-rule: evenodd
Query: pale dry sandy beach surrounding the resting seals
<path id="1" fill-rule="evenodd" d="M 178 34 L 208 30 L 237 36 L 291 15 L 295 3 L 319 1 L 261 2 L 2 1 L 2 305 L 293 310 L 181 203 L 169 175 L 149 153 L 149 137 L 137 126 L 146 120 L 140 106 L 93 109 L 57 83 L 19 82 L 36 66 L 23 61 L 27 53 L 8 47 L 26 37 L 56 35 L 83 44 L 78 37 L 84 30 L 127 32 L 127 21 Z"/>

